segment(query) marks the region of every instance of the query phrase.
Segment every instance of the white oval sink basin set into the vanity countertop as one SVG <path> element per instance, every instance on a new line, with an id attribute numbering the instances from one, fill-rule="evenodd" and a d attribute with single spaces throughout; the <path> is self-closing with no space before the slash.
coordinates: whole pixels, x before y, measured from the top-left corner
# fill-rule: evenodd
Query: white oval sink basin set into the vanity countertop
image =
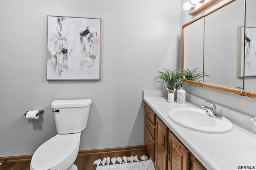
<path id="1" fill-rule="evenodd" d="M 203 109 L 176 108 L 170 110 L 168 115 L 176 124 L 202 133 L 228 133 L 233 129 L 228 119 L 223 116 L 222 119 L 216 119 L 207 115 Z"/>

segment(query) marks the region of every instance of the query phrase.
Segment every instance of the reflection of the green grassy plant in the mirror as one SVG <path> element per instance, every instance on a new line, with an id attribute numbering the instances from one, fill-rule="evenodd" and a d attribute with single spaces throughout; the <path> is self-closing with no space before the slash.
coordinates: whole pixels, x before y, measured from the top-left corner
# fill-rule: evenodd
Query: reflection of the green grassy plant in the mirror
<path id="1" fill-rule="evenodd" d="M 198 67 L 193 68 L 191 70 L 189 70 L 188 67 L 186 67 L 186 69 L 183 71 L 183 74 L 184 74 L 183 78 L 186 80 L 201 82 L 202 80 L 200 80 L 200 78 L 203 78 L 205 76 L 209 77 L 209 75 L 206 74 L 205 72 L 199 72 L 197 70 L 198 70 Z"/>

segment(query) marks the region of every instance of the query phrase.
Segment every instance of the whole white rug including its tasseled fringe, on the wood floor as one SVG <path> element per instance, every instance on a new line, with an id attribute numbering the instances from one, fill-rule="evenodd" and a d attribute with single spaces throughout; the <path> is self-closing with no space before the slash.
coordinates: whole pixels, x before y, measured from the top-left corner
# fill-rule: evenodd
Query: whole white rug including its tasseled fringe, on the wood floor
<path id="1" fill-rule="evenodd" d="M 129 157 L 123 156 L 123 158 L 111 158 L 111 160 L 107 157 L 102 161 L 100 159 L 95 160 L 94 164 L 97 165 L 96 170 L 155 170 L 151 159 L 148 159 L 147 156 L 144 155 L 140 158 L 142 158 L 141 161 L 138 160 L 137 155 Z"/>

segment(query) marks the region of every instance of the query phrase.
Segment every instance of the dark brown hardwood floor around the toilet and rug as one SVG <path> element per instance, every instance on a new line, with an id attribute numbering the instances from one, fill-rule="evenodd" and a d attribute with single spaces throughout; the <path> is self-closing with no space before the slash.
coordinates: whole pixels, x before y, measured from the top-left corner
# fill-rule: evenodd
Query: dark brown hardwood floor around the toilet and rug
<path id="1" fill-rule="evenodd" d="M 86 152 L 82 151 L 78 153 L 74 164 L 78 167 L 78 170 L 96 170 L 96 165 L 93 164 L 94 160 L 103 159 L 104 157 L 122 157 L 122 156 L 136 156 L 140 160 L 140 156 L 146 155 L 149 158 L 148 151 L 145 147 L 138 149 L 110 149 L 102 150 L 100 152 Z M 0 170 L 30 170 L 30 160 L 18 161 L 18 162 L 5 162 L 0 165 Z"/>

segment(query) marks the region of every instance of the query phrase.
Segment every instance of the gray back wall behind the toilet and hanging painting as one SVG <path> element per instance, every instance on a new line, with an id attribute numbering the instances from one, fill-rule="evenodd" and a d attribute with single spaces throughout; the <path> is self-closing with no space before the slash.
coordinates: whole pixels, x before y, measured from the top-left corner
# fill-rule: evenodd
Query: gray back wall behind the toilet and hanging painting
<path id="1" fill-rule="evenodd" d="M 102 19 L 102 80 L 46 80 L 47 15 Z M 0 21 L 0 157 L 56 135 L 50 104 L 60 99 L 92 99 L 80 150 L 144 145 L 142 91 L 163 89 L 155 72 L 179 66 L 179 0 L 9 0 Z M 34 109 L 45 112 L 25 119 Z"/>

